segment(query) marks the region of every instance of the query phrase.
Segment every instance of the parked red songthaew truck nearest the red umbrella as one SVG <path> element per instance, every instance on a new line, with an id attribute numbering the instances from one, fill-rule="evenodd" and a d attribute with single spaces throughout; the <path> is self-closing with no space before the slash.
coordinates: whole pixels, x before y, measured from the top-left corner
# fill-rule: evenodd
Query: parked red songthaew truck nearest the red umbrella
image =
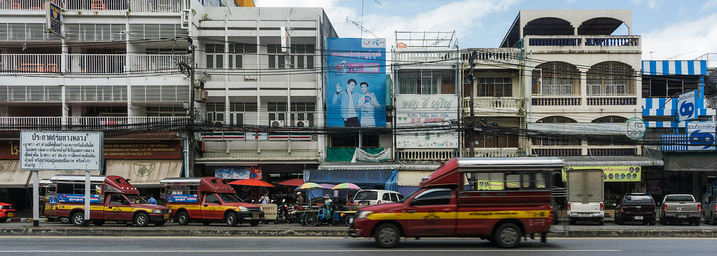
<path id="1" fill-rule="evenodd" d="M 264 209 L 239 199 L 226 179 L 166 178 L 160 184 L 166 206 L 172 209 L 175 222 L 180 225 L 196 220 L 205 225 L 224 222 L 234 227 L 248 222 L 256 226 L 264 219 Z"/>

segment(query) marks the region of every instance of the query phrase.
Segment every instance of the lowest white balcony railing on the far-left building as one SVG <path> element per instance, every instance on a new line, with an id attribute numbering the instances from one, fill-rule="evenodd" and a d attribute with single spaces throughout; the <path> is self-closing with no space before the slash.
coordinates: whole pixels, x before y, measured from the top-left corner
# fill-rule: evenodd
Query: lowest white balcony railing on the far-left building
<path id="1" fill-rule="evenodd" d="M 20 130 L 120 130 L 132 128 L 181 128 L 183 117 L 0 117 L 0 131 Z"/>

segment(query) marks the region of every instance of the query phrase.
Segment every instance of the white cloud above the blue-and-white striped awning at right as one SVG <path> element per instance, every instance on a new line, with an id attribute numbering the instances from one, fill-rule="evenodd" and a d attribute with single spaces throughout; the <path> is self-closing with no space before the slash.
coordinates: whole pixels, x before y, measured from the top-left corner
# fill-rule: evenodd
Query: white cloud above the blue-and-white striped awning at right
<path id="1" fill-rule="evenodd" d="M 693 60 L 707 53 L 717 52 L 717 14 L 684 21 L 642 34 L 642 60 Z M 695 52 L 693 52 L 695 51 Z"/>

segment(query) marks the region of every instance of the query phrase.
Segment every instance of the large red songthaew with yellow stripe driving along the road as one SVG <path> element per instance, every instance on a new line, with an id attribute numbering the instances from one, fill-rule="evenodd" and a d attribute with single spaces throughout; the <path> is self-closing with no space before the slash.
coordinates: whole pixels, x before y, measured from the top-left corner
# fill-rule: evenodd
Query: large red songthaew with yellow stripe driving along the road
<path id="1" fill-rule="evenodd" d="M 396 247 L 400 237 L 480 237 L 516 247 L 551 228 L 560 158 L 453 158 L 397 203 L 362 207 L 349 234 Z"/>

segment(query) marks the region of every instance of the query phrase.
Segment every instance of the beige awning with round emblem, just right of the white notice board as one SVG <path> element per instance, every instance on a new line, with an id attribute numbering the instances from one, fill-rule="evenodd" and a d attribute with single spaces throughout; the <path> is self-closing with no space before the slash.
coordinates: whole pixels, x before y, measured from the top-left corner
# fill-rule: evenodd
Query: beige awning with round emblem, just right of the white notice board
<path id="1" fill-rule="evenodd" d="M 160 187 L 164 178 L 179 177 L 182 160 L 107 159 L 106 175 L 122 176 L 136 187 Z"/>

